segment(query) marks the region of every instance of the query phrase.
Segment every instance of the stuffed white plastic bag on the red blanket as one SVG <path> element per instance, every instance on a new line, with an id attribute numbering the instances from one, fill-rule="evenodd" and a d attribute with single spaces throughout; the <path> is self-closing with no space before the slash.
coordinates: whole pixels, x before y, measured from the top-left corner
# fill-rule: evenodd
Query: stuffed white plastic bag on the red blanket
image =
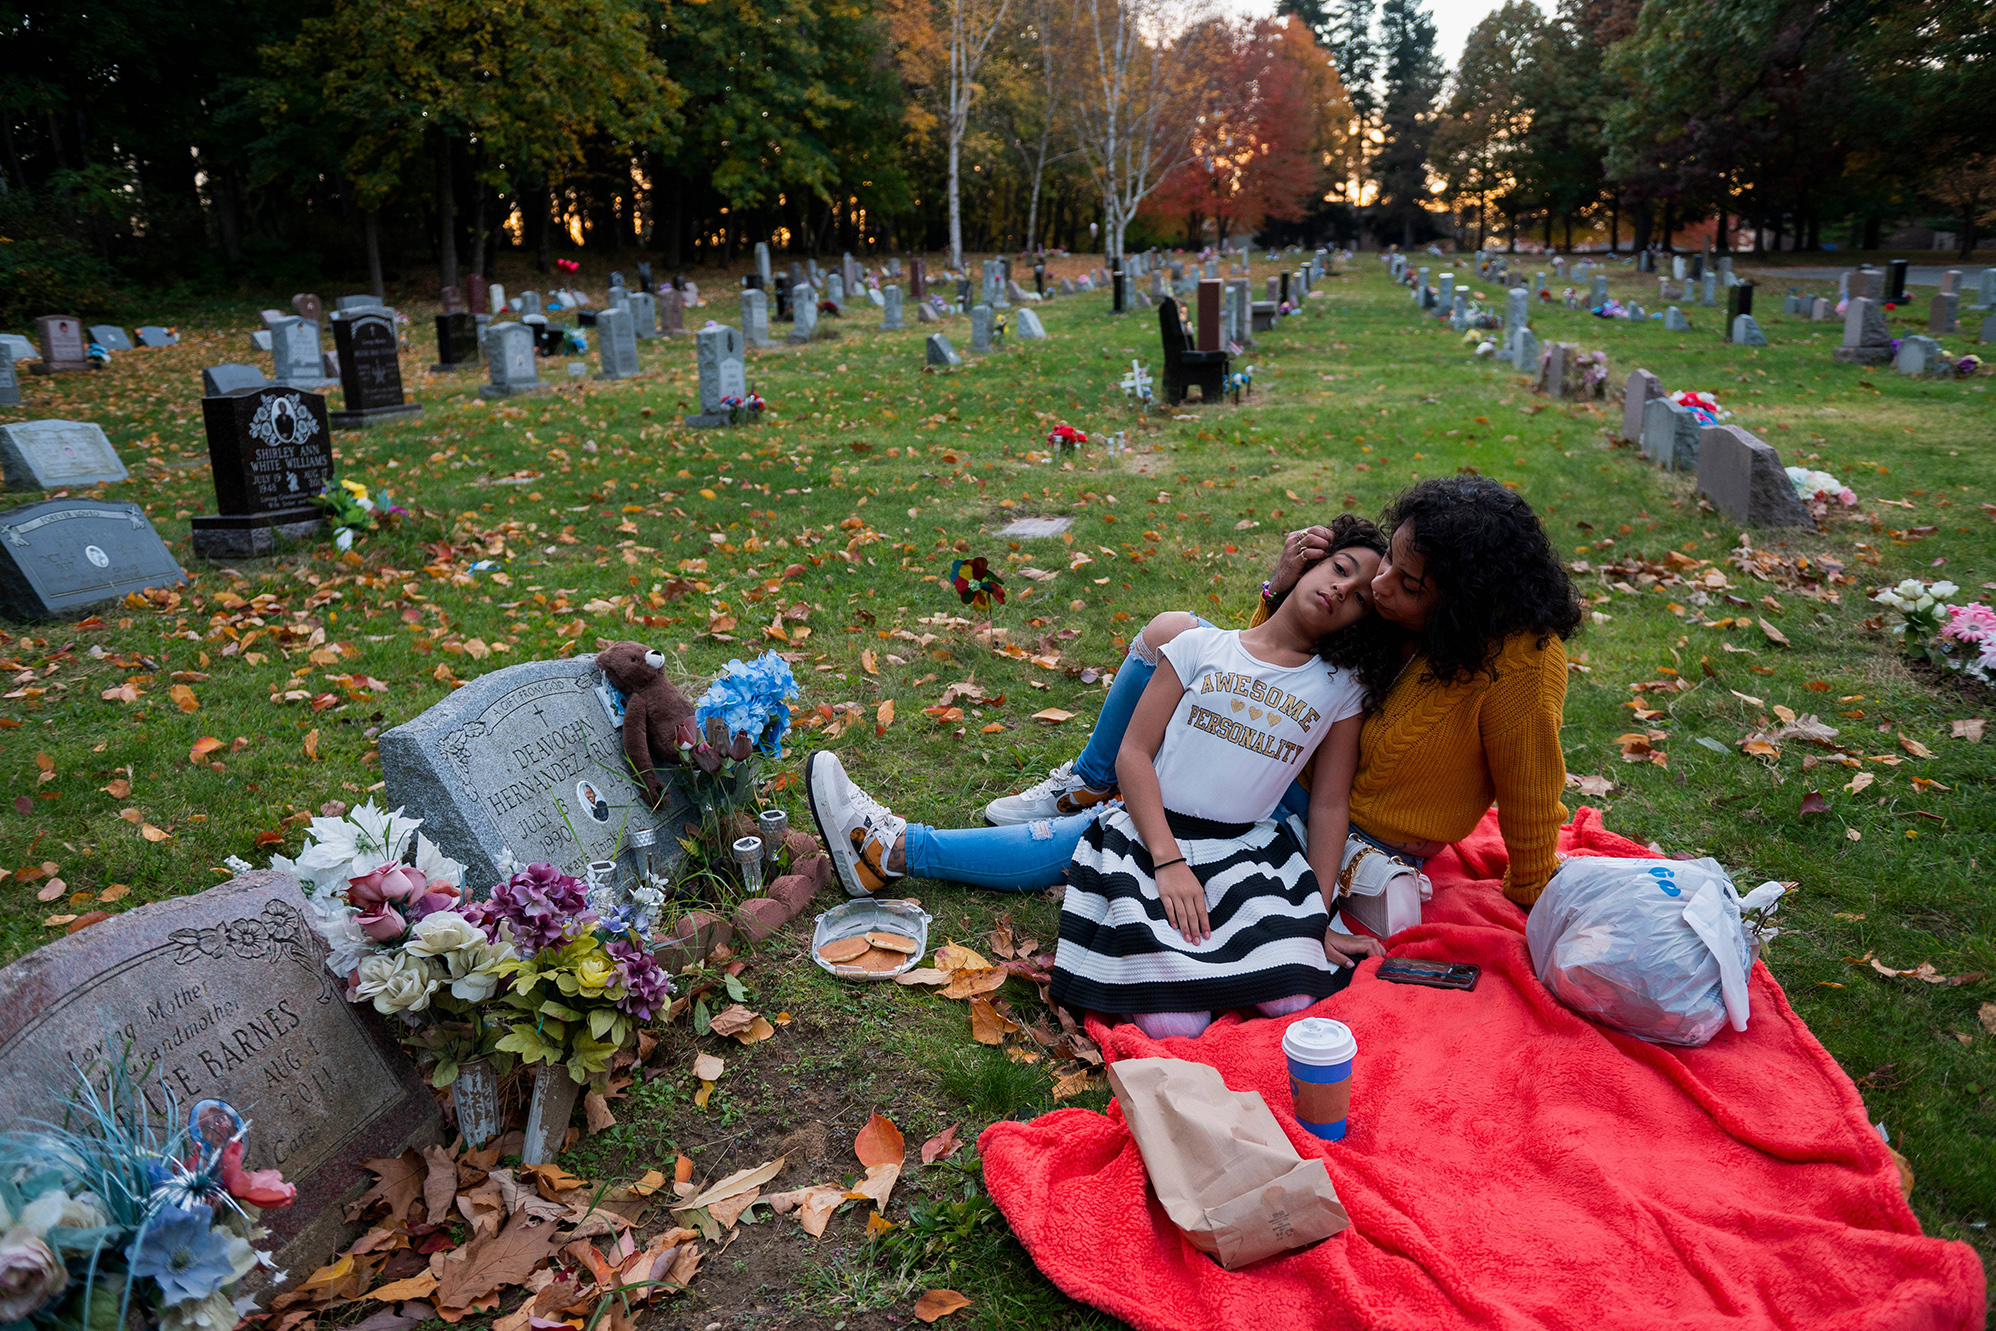
<path id="1" fill-rule="evenodd" d="M 1655 1044 L 1699 1046 L 1746 1030 L 1741 908 L 1770 910 L 1780 884 L 1741 900 L 1717 860 L 1567 860 L 1531 908 L 1539 980 L 1581 1016 Z M 1762 932 L 1766 936 L 1766 932 Z"/>

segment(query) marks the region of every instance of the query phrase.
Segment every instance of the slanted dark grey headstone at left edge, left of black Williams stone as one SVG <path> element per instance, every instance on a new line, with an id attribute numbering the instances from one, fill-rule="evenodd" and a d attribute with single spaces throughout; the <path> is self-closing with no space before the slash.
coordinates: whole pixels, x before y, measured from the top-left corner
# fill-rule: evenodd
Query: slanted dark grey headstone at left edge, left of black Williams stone
<path id="1" fill-rule="evenodd" d="M 136 503 L 44 499 L 0 513 L 0 617 L 50 619 L 182 581 Z"/>

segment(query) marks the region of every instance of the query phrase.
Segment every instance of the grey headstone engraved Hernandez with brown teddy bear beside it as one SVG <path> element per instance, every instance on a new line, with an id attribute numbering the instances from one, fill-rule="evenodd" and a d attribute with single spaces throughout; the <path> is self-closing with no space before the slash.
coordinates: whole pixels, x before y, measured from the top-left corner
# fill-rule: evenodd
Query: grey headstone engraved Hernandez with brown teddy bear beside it
<path id="1" fill-rule="evenodd" d="M 609 688 L 593 661 L 491 670 L 381 734 L 387 804 L 463 860 L 465 882 L 499 880 L 501 852 L 583 876 L 617 858 L 631 832 L 673 846 L 681 810 L 653 810 L 629 776 Z"/>

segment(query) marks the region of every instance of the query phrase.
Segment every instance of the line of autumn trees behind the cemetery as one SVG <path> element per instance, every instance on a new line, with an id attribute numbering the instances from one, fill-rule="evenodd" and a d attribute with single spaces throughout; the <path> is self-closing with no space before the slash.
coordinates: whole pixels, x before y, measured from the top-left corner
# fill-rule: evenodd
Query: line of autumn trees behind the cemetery
<path id="1" fill-rule="evenodd" d="M 900 249 L 1786 243 L 1996 200 L 1980 0 L 14 0 L 0 315 Z"/>

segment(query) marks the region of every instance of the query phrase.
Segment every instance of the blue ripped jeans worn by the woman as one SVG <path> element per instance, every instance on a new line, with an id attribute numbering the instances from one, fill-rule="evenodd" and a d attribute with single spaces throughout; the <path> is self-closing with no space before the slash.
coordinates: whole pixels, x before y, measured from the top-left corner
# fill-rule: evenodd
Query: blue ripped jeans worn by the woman
<path id="1" fill-rule="evenodd" d="M 1200 627 L 1212 629 L 1198 615 L 1192 619 Z M 1130 655 L 1124 657 L 1122 668 L 1116 670 L 1116 682 L 1110 684 L 1110 692 L 1102 700 L 1102 714 L 1096 716 L 1088 746 L 1074 760 L 1074 772 L 1096 790 L 1116 784 L 1116 754 L 1122 750 L 1124 730 L 1130 728 L 1136 704 L 1156 672 L 1156 649 L 1138 639 L 1130 645 Z M 1309 792 L 1289 782 L 1279 812 L 1307 818 Z M 932 828 L 910 822 L 908 874 L 964 882 L 994 892 L 1042 892 L 1064 882 L 1074 846 L 1094 818 L 1094 812 L 1086 812 L 1008 828 Z"/>

